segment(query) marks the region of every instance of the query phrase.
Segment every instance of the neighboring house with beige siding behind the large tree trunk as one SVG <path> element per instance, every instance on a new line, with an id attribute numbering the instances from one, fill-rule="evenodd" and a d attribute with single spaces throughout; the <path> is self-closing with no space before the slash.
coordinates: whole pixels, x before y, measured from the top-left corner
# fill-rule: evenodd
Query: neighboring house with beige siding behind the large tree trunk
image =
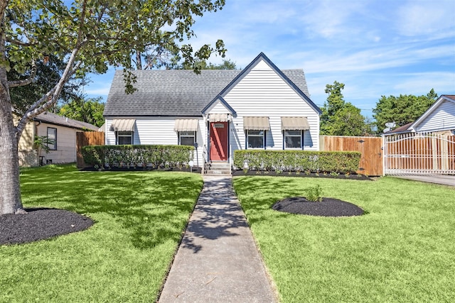
<path id="1" fill-rule="evenodd" d="M 98 127 L 49 112 L 39 114 L 27 123 L 19 140 L 19 165 L 76 162 L 76 133 L 79 131 L 98 131 Z M 42 150 L 38 155 L 33 143 L 36 136 L 53 140 L 53 144 L 48 145 L 49 153 Z"/>

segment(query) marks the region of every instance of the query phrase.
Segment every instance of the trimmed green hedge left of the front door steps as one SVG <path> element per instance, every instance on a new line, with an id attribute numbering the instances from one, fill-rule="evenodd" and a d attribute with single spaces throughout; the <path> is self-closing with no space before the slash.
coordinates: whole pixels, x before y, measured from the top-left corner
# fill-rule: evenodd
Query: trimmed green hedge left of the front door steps
<path id="1" fill-rule="evenodd" d="M 183 167 L 193 160 L 188 145 L 88 145 L 82 147 L 85 163 L 93 167 Z"/>

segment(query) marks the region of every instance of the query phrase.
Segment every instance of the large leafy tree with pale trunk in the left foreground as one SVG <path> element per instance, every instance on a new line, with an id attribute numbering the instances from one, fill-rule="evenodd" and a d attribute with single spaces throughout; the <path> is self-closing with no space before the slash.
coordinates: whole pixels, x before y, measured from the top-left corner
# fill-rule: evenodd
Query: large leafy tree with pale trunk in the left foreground
<path id="1" fill-rule="evenodd" d="M 194 50 L 188 42 L 196 16 L 222 9 L 225 0 L 0 0 L 0 214 L 23 211 L 19 187 L 18 139 L 26 123 L 54 106 L 73 75 L 122 66 L 125 90 L 134 92 L 132 56 L 147 47 L 181 54 L 185 64 L 224 57 L 222 40 Z M 66 65 L 58 82 L 33 100 L 17 123 L 18 101 L 10 89 L 35 79 L 37 63 L 52 56 Z M 14 70 L 19 76 L 9 78 Z"/>

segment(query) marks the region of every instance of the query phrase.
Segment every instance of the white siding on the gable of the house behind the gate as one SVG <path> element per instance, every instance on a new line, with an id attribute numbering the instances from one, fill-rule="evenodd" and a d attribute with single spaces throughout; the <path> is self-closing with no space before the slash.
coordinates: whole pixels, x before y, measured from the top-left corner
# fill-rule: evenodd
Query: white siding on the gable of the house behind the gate
<path id="1" fill-rule="evenodd" d="M 455 129 L 455 103 L 444 100 L 426 119 L 417 125 L 415 131 L 444 131 Z"/>

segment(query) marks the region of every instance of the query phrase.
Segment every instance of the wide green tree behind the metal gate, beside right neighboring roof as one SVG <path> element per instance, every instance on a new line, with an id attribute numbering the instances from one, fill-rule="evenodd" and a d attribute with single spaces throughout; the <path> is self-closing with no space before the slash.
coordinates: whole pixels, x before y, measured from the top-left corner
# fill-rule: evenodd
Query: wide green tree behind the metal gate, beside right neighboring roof
<path id="1" fill-rule="evenodd" d="M 428 94 L 419 97 L 412 94 L 400 94 L 400 97 L 382 96 L 376 103 L 375 109 L 373 109 L 375 126 L 378 128 L 377 133 L 382 133 L 387 122 L 395 122 L 397 127 L 414 122 L 437 98 L 438 95 L 434 92 L 434 89 L 431 89 Z"/>

